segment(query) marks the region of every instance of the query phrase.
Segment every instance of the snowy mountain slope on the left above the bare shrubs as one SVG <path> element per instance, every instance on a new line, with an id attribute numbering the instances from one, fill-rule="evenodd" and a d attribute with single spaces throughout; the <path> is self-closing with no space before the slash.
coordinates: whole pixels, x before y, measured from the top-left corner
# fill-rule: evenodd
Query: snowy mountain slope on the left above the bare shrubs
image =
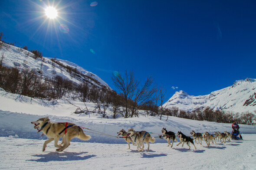
<path id="1" fill-rule="evenodd" d="M 111 89 L 98 75 L 88 72 L 75 63 L 48 57 L 36 58 L 32 52 L 3 43 L 0 48 L 0 60 L 5 67 L 18 67 L 20 69 L 33 69 L 38 75 L 53 78 L 59 75 L 77 84 L 88 83 L 99 88 Z M 53 62 L 53 60 L 55 62 Z M 59 63 L 59 64 L 58 64 Z M 73 71 L 70 71 L 73 70 Z"/>

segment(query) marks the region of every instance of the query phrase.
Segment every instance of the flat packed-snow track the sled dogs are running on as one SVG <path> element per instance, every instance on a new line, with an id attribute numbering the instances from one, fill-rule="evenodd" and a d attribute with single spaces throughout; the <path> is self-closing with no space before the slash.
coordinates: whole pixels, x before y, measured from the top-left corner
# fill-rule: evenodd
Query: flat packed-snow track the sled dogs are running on
<path id="1" fill-rule="evenodd" d="M 64 152 L 56 152 L 51 142 L 42 152 L 45 140 L 0 137 L 0 169 L 43 170 L 58 169 L 96 169 L 96 170 L 167 170 L 210 169 L 210 170 L 255 170 L 256 134 L 243 134 L 244 141 L 231 141 L 211 144 L 209 148 L 203 141 L 195 144 L 197 150 L 184 144 L 173 148 L 167 143 L 150 144 L 150 150 L 138 152 L 131 144 L 101 144 L 71 142 Z M 147 148 L 147 144 L 145 144 Z"/>

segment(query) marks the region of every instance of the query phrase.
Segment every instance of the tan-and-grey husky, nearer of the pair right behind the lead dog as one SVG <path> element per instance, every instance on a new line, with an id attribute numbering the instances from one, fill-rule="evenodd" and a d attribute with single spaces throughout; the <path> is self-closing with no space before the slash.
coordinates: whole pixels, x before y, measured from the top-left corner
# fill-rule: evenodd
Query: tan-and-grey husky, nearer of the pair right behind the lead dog
<path id="1" fill-rule="evenodd" d="M 146 131 L 134 131 L 133 128 L 127 131 L 127 136 L 131 137 L 131 140 L 137 144 L 138 151 L 144 150 L 144 142 L 148 144 L 148 151 L 149 151 L 149 142 L 154 143 L 155 138 L 151 137 L 150 134 Z M 142 145 L 142 148 L 141 148 Z"/>

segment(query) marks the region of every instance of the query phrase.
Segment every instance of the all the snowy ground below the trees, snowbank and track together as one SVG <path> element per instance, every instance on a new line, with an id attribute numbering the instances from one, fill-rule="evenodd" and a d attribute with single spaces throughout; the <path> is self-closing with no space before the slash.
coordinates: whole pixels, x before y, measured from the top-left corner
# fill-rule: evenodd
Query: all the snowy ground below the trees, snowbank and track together
<path id="1" fill-rule="evenodd" d="M 83 103 L 74 102 L 84 107 Z M 93 106 L 88 104 L 88 106 Z M 214 131 L 231 132 L 231 124 L 220 124 L 207 121 L 194 121 L 165 116 L 139 118 L 102 119 L 100 115 L 73 114 L 75 107 L 66 100 L 44 101 L 15 95 L 0 89 L 0 169 L 93 169 L 93 170 L 168 170 L 168 169 L 203 169 L 210 170 L 255 170 L 256 167 L 256 128 L 240 125 L 243 141 L 231 141 L 222 144 L 181 145 L 171 149 L 158 134 L 166 127 L 168 131 L 190 131 L 213 133 Z M 108 113 L 109 115 L 111 113 Z M 53 142 L 42 152 L 47 139 L 41 132 L 37 133 L 31 121 L 49 116 L 53 122 L 73 122 L 79 126 L 116 136 L 124 128 L 133 127 L 135 131 L 153 132 L 156 142 L 150 144 L 149 151 L 138 152 L 136 146 L 127 149 L 122 138 L 103 136 L 85 132 L 92 136 L 83 142 L 77 138 L 63 152 L 56 152 Z M 87 130 L 86 130 L 87 131 Z M 147 148 L 147 144 L 145 144 Z"/>

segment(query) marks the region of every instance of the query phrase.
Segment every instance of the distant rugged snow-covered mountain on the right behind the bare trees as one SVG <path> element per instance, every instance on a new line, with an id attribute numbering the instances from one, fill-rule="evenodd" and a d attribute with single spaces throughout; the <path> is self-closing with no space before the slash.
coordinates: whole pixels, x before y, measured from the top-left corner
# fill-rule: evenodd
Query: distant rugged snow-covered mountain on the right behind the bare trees
<path id="1" fill-rule="evenodd" d="M 184 111 L 210 107 L 214 110 L 233 112 L 256 111 L 256 79 L 237 80 L 232 86 L 211 92 L 209 95 L 193 96 L 184 91 L 175 94 L 163 105 Z"/>

